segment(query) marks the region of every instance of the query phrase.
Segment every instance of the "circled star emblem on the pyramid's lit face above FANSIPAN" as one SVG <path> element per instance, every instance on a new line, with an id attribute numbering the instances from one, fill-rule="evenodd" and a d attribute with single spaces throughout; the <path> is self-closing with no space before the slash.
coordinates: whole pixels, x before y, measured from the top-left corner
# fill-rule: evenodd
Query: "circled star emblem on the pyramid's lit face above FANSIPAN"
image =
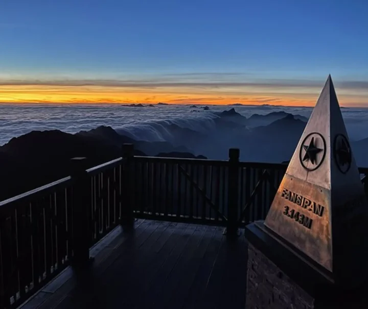
<path id="1" fill-rule="evenodd" d="M 307 171 L 316 170 L 326 156 L 326 141 L 316 132 L 308 134 L 299 150 L 299 160 Z"/>

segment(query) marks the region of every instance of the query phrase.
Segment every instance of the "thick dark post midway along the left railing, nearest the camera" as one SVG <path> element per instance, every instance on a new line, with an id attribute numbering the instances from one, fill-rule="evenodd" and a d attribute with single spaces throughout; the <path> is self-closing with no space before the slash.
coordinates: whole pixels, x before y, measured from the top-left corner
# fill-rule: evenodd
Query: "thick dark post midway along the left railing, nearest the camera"
<path id="1" fill-rule="evenodd" d="M 90 186 L 86 172 L 86 158 L 71 159 L 73 182 L 73 266 L 83 266 L 91 261 L 89 257 L 89 207 Z"/>

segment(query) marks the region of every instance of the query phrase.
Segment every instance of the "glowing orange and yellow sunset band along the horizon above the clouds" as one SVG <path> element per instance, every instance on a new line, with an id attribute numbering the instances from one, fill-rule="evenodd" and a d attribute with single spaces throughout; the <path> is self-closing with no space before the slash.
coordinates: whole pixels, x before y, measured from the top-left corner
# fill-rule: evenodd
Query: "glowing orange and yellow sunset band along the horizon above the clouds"
<path id="1" fill-rule="evenodd" d="M 146 103 L 155 104 L 249 104 L 313 106 L 319 94 L 318 87 L 274 87 L 273 85 L 0 85 L 2 103 Z M 366 104 L 368 92 L 349 88 L 337 88 L 342 106 Z"/>

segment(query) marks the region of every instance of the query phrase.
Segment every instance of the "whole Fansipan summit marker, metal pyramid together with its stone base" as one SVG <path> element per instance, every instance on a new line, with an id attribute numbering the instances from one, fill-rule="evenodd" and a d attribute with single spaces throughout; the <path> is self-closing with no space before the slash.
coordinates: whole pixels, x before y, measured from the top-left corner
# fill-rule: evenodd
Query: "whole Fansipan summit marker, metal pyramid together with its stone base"
<path id="1" fill-rule="evenodd" d="M 367 187 L 329 75 L 266 219 L 244 228 L 245 309 L 368 308 Z"/>

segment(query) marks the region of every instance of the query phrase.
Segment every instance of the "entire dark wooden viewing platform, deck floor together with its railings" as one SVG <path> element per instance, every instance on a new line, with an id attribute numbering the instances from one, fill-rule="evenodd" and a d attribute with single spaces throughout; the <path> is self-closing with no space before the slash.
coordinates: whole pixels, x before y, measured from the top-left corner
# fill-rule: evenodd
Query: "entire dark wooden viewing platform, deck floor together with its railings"
<path id="1" fill-rule="evenodd" d="M 244 308 L 242 228 L 287 165 L 132 151 L 0 202 L 0 308 Z"/>

